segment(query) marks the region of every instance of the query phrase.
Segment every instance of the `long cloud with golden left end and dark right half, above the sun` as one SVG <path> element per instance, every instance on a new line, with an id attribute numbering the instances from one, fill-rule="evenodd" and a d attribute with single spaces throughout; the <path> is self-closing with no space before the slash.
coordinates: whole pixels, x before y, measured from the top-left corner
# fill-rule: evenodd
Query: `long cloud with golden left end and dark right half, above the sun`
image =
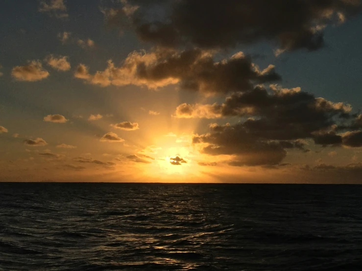
<path id="1" fill-rule="evenodd" d="M 242 53 L 217 62 L 214 53 L 197 48 L 181 52 L 160 48 L 150 53 L 133 52 L 121 67 L 109 60 L 107 68 L 95 74 L 79 64 L 74 77 L 101 87 L 136 85 L 157 89 L 177 84 L 181 89 L 208 94 L 252 90 L 255 83 L 281 79 L 274 66 L 260 70 Z"/>

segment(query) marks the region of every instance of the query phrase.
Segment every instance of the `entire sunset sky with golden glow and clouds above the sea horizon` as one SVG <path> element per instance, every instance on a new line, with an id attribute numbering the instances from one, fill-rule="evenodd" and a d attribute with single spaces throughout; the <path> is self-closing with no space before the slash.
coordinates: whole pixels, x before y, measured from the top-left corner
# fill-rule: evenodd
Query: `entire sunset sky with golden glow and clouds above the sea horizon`
<path id="1" fill-rule="evenodd" d="M 362 182 L 361 0 L 0 5 L 0 181 Z"/>

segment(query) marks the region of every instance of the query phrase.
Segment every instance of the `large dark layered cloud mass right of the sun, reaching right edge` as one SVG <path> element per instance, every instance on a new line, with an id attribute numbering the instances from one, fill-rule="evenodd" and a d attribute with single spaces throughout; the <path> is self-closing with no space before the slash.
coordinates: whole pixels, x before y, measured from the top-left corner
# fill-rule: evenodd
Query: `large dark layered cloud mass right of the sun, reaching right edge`
<path id="1" fill-rule="evenodd" d="M 272 85 L 269 91 L 257 87 L 234 93 L 222 105 L 198 105 L 206 113 L 194 113 L 194 105 L 186 106 L 190 112 L 183 113 L 193 117 L 250 117 L 235 125 L 210 124 L 210 133 L 193 136 L 193 144 L 205 144 L 202 153 L 233 156 L 229 161 L 232 166 L 277 165 L 286 157 L 287 149 L 310 152 L 304 139 L 322 146 L 362 146 L 362 131 L 338 134 L 338 130 L 351 127 L 351 119 L 357 122 L 350 105 L 315 98 L 300 88 Z"/>

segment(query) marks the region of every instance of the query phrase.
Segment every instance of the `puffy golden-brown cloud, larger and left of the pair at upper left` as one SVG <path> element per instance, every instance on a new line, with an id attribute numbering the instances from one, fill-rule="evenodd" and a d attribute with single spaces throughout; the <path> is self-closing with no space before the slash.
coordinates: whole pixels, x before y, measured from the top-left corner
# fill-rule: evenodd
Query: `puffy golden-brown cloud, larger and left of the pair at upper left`
<path id="1" fill-rule="evenodd" d="M 43 68 L 39 60 L 33 60 L 28 65 L 14 67 L 11 75 L 17 81 L 35 82 L 47 78 L 49 72 Z"/>

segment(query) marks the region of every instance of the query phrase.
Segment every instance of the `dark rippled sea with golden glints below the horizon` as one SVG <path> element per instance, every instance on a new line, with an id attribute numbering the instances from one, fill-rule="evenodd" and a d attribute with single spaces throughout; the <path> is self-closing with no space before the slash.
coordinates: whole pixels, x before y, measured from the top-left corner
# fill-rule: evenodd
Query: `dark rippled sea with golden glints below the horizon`
<path id="1" fill-rule="evenodd" d="M 362 185 L 0 183 L 0 270 L 362 270 Z"/>

